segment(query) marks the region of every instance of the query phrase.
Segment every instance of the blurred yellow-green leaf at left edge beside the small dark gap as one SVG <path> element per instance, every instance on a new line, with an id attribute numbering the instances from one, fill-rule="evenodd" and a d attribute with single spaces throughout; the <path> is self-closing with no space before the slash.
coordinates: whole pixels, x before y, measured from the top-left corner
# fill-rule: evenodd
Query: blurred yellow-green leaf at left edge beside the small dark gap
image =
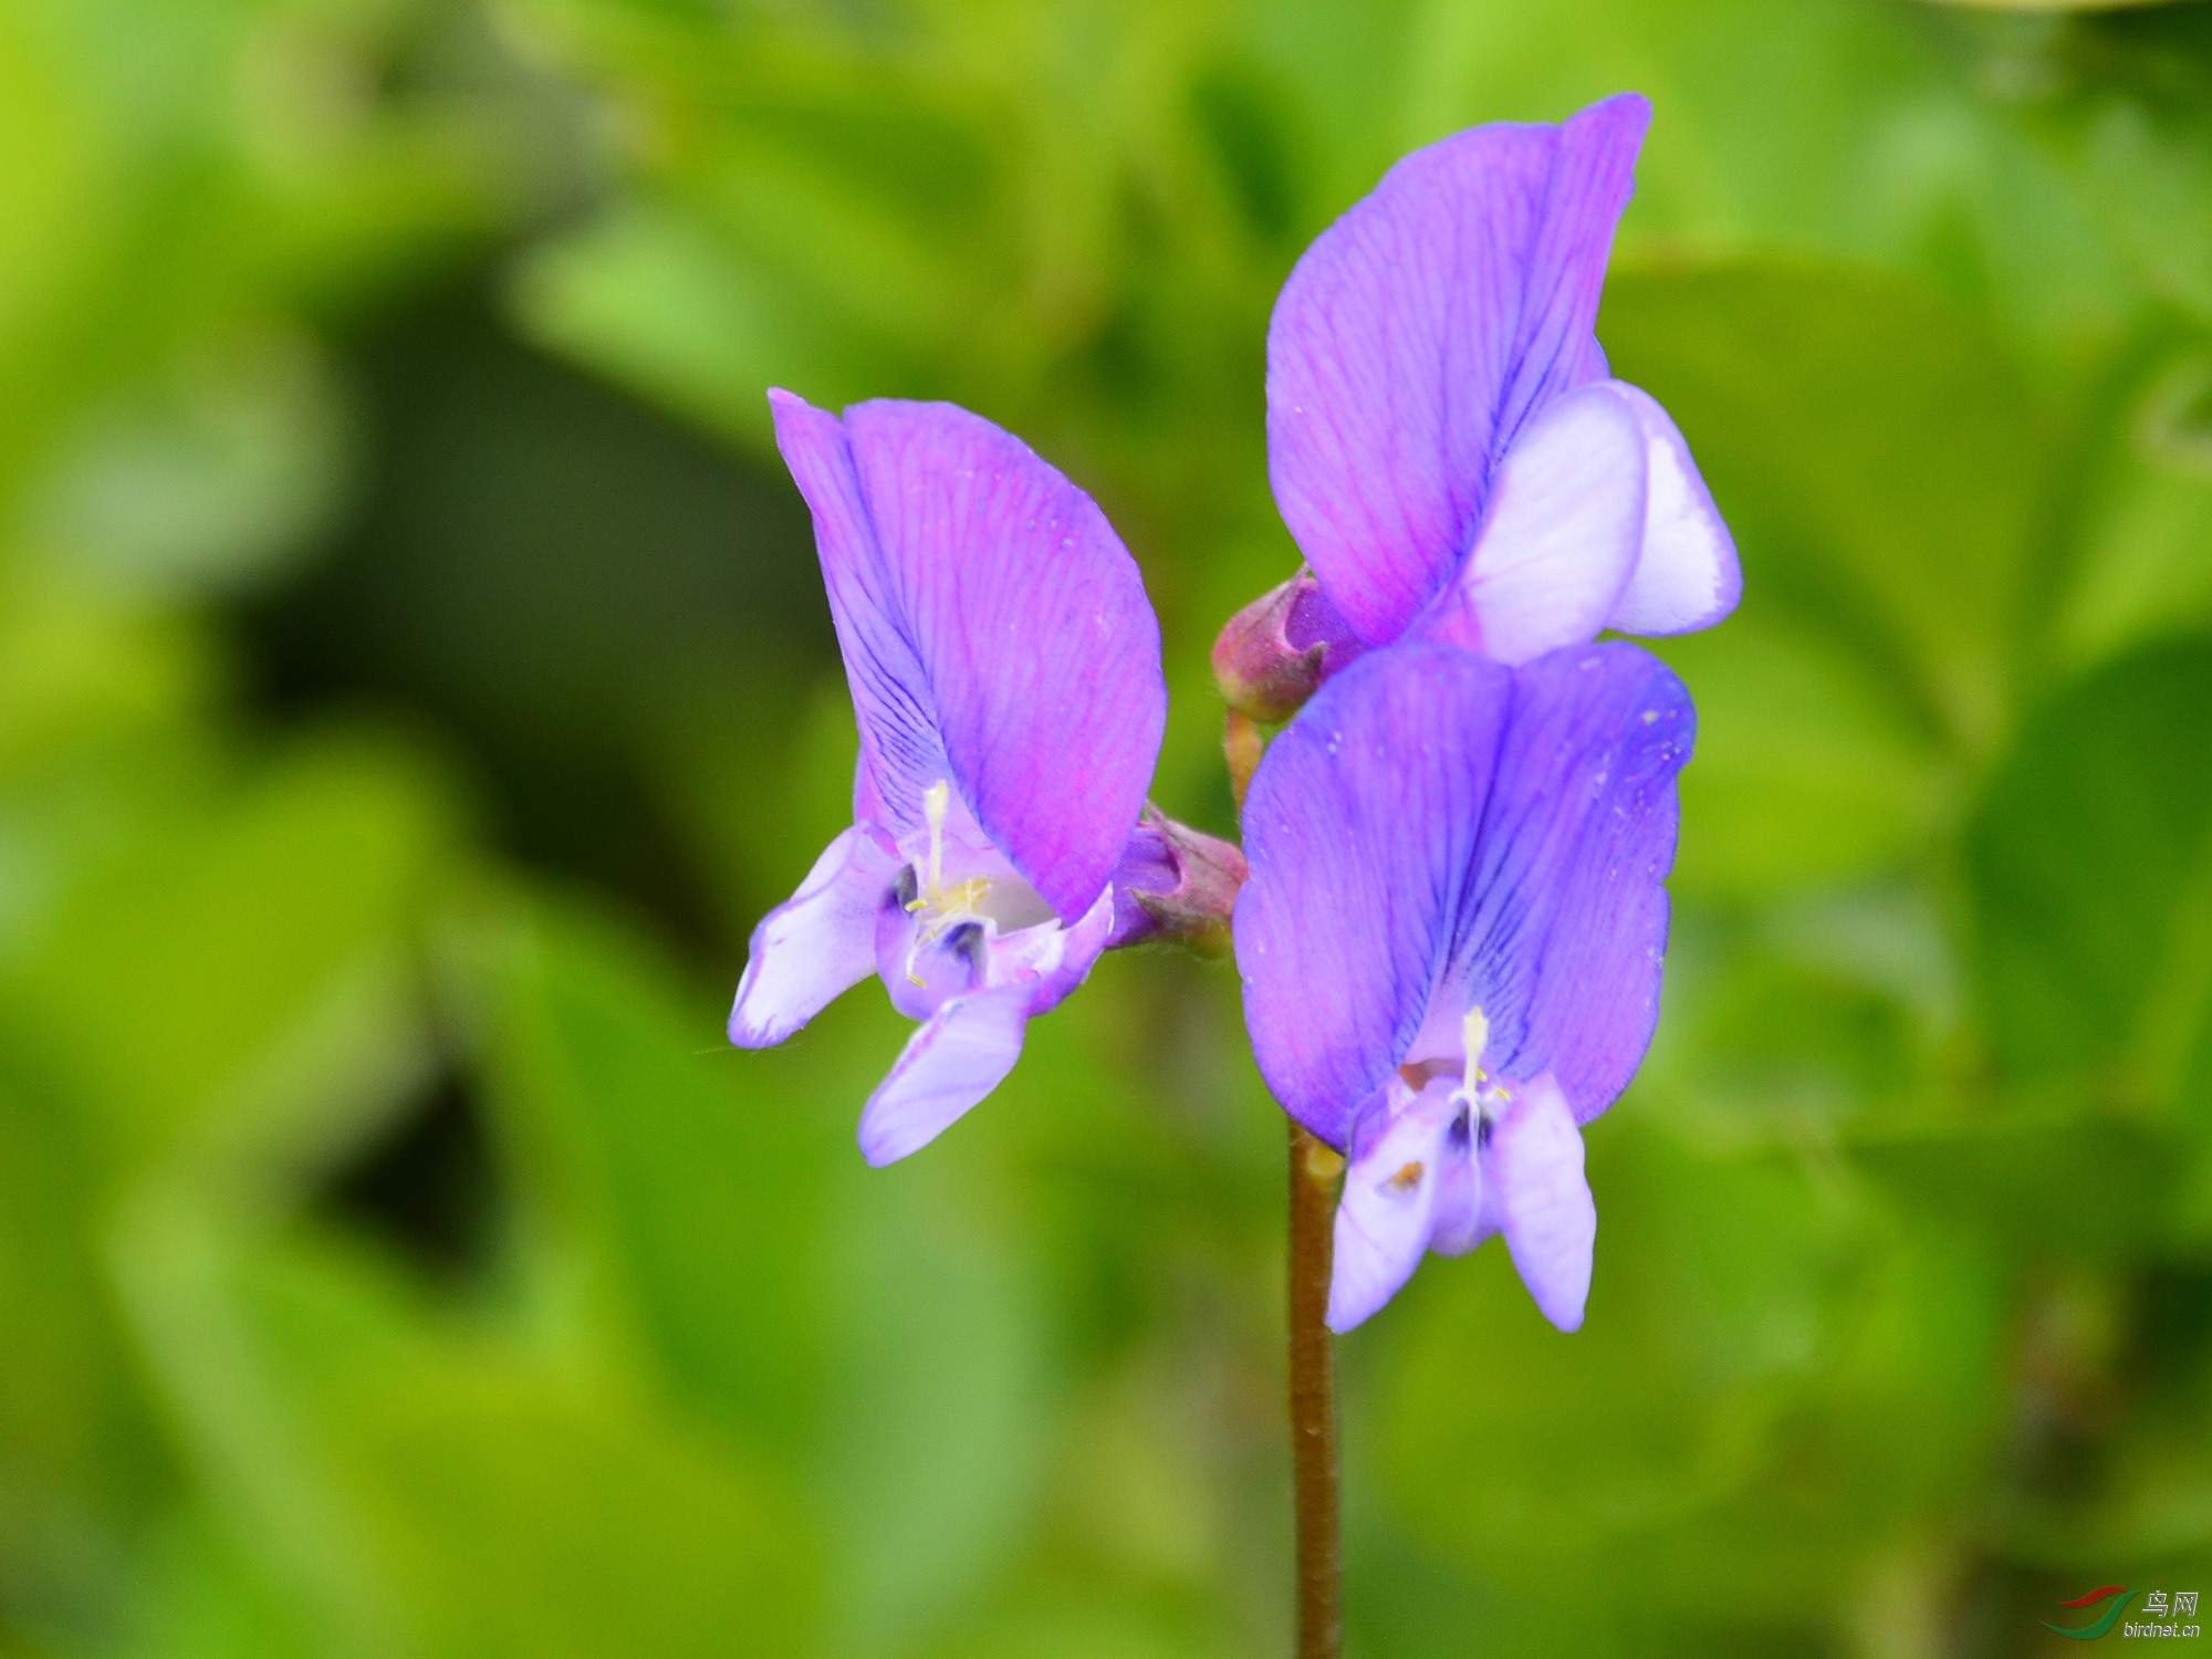
<path id="1" fill-rule="evenodd" d="M 115 1168 L 188 1150 L 268 1179 L 411 1082 L 442 794 L 394 748 L 303 743 L 69 894 L 0 1006 Z"/>

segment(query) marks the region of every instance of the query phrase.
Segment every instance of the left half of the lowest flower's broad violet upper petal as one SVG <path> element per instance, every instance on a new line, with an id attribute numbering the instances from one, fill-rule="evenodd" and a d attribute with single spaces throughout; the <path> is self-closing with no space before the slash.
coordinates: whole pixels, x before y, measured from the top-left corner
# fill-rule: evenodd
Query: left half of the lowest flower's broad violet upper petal
<path id="1" fill-rule="evenodd" d="M 1502 664 L 1396 646 L 1323 686 L 1252 779 L 1245 1026 L 1267 1088 L 1329 1146 L 1405 1057 L 1449 960 L 1511 699 Z"/>

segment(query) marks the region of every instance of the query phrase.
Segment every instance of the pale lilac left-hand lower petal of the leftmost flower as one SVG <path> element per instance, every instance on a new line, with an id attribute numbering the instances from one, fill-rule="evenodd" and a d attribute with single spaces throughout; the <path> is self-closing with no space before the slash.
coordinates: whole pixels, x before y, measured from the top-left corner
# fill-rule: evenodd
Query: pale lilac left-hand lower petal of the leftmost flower
<path id="1" fill-rule="evenodd" d="M 876 967 L 876 909 L 898 869 L 867 825 L 832 841 L 799 891 L 752 929 L 730 1042 L 768 1048 L 799 1031 Z"/>

